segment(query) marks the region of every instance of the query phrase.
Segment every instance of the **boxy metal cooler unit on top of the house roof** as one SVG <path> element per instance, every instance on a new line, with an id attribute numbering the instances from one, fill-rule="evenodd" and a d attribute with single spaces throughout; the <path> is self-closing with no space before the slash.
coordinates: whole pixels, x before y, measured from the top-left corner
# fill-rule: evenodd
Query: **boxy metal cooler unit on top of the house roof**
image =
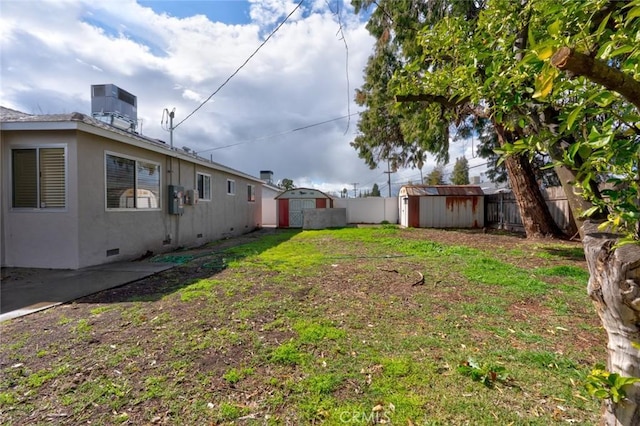
<path id="1" fill-rule="evenodd" d="M 92 85 L 91 116 L 118 129 L 135 132 L 138 98 L 115 84 Z"/>

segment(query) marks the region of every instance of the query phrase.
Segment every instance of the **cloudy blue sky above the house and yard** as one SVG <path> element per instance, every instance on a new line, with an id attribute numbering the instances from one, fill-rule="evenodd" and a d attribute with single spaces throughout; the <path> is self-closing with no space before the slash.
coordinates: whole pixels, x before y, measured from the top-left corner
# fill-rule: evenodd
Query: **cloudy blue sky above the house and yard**
<path id="1" fill-rule="evenodd" d="M 146 136 L 168 140 L 162 113 L 175 108 L 177 147 L 254 176 L 272 170 L 276 181 L 298 186 L 337 193 L 377 183 L 384 192 L 386 169 L 369 170 L 349 145 L 355 90 L 374 45 L 366 17 L 342 0 L 305 0 L 265 43 L 297 4 L 0 0 L 1 104 L 90 115 L 91 85 L 115 84 L 137 96 Z M 470 149 L 455 145 L 451 157 Z M 427 160 L 425 174 L 434 166 Z M 392 180 L 396 188 L 418 182 L 420 171 Z"/>

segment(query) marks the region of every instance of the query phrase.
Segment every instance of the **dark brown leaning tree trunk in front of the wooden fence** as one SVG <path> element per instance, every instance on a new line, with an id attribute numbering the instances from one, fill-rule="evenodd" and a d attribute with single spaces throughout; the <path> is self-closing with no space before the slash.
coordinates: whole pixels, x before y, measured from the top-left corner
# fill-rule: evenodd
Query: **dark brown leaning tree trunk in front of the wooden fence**
<path id="1" fill-rule="evenodd" d="M 506 131 L 501 124 L 494 123 L 494 127 L 498 142 L 502 146 L 508 142 Z M 510 155 L 504 164 L 527 238 L 562 236 L 562 231 L 553 220 L 547 202 L 540 192 L 529 159 L 522 155 Z"/>

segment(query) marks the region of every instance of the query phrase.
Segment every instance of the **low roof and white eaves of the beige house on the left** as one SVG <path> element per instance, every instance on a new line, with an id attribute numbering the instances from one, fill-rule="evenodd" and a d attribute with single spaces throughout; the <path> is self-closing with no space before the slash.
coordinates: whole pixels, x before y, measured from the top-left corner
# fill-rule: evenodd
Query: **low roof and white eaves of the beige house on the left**
<path id="1" fill-rule="evenodd" d="M 119 142 L 135 145 L 151 151 L 187 160 L 202 166 L 234 174 L 259 183 L 264 181 L 255 176 L 232 169 L 220 163 L 209 161 L 206 158 L 195 155 L 179 148 L 171 148 L 166 142 L 143 136 L 139 133 L 131 133 L 103 121 L 96 120 L 80 112 L 70 114 L 44 114 L 35 115 L 16 111 L 0 106 L 0 130 L 27 131 L 27 130 L 80 130 L 87 133 L 114 139 Z"/>

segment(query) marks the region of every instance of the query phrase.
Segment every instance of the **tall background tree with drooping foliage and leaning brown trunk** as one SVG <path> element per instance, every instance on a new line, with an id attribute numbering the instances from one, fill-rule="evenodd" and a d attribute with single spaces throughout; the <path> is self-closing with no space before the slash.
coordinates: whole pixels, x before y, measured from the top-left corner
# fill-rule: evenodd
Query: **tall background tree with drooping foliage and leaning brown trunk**
<path id="1" fill-rule="evenodd" d="M 485 117 L 486 108 L 479 108 L 478 103 L 474 103 L 476 99 L 468 95 L 452 96 L 446 85 L 425 96 L 422 90 L 425 87 L 421 82 L 426 75 L 446 75 L 456 66 L 456 58 L 448 55 L 444 46 L 455 51 L 456 46 L 452 48 L 452 41 L 455 39 L 453 44 L 457 45 L 473 32 L 486 2 L 357 0 L 353 3 L 356 10 L 376 4 L 367 28 L 378 42 L 365 69 L 365 85 L 357 96 L 361 105 L 369 109 L 361 118 L 361 133 L 352 145 L 371 167 L 375 167 L 372 159 L 385 158 L 384 155 L 391 156 L 396 165 L 421 167 L 420 161 L 425 152 L 435 154 L 438 161 L 447 162 L 449 129 L 464 126 L 469 117 Z M 449 20 L 466 23 L 467 27 L 460 34 L 451 34 L 452 37 L 447 39 L 448 34 L 440 23 Z M 438 40 L 440 46 L 431 43 L 433 38 L 425 42 L 424 35 L 436 27 L 443 31 L 446 39 Z M 517 30 L 512 29 L 508 34 L 511 39 L 516 38 Z M 394 76 L 402 74 L 404 78 L 389 78 L 392 70 Z M 398 84 L 398 81 L 402 83 Z M 396 100 L 406 102 L 392 107 L 391 96 L 402 92 L 404 95 L 419 95 L 396 97 Z M 380 109 L 382 104 L 384 108 Z M 498 143 L 509 143 L 517 137 L 499 120 L 493 119 L 491 124 Z M 390 131 L 392 135 L 388 135 Z M 505 165 L 527 236 L 560 235 L 540 193 L 535 169 L 526 156 L 521 157 L 511 156 Z"/>

